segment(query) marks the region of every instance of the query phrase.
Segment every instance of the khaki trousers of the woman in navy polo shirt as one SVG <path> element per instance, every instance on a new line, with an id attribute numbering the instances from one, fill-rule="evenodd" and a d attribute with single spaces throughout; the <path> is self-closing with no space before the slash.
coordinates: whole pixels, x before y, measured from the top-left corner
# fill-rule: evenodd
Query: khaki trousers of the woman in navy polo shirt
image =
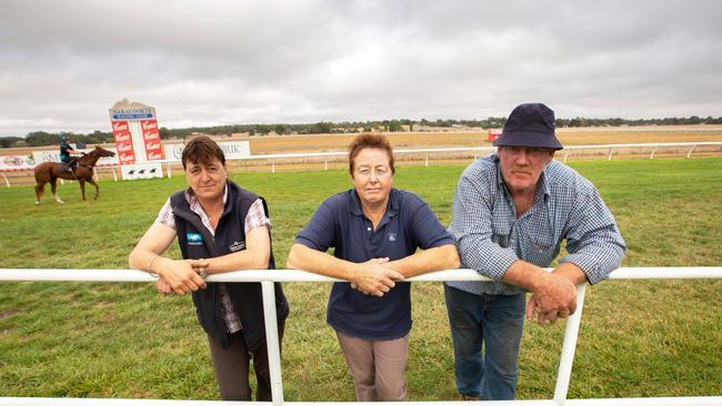
<path id="1" fill-rule="evenodd" d="M 388 341 L 368 341 L 335 332 L 355 383 L 359 402 L 405 400 L 409 334 Z"/>

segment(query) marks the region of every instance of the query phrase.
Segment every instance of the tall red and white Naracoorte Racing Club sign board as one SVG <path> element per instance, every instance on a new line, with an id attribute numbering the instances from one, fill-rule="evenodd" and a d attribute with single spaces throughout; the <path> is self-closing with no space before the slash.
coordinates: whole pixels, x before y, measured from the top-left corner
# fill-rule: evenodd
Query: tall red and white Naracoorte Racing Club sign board
<path id="1" fill-rule="evenodd" d="M 141 165 L 163 160 L 156 108 L 123 99 L 113 104 L 109 114 L 123 179 L 162 177 L 160 164 L 153 171 Z M 138 175 L 141 172 L 143 176 Z"/>

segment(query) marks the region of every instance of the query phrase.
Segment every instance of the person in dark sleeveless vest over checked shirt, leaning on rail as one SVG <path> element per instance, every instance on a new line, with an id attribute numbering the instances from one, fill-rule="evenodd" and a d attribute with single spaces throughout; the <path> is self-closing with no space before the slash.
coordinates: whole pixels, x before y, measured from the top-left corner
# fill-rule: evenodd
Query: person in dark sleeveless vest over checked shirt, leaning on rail
<path id="1" fill-rule="evenodd" d="M 251 399 L 252 358 L 255 398 L 270 402 L 260 283 L 204 281 L 213 273 L 275 268 L 265 201 L 228 180 L 223 151 L 208 136 L 189 142 L 182 162 L 190 187 L 168 199 L 131 252 L 130 266 L 158 274 L 161 294 L 192 293 L 223 400 Z M 176 238 L 183 260 L 161 256 Z M 289 307 L 278 283 L 275 304 L 280 339 Z"/>

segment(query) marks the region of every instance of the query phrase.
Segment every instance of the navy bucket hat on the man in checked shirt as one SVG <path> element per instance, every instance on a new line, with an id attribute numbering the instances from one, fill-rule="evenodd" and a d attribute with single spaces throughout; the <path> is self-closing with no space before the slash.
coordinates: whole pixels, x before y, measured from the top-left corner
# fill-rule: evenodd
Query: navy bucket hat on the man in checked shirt
<path id="1" fill-rule="evenodd" d="M 518 105 L 504 124 L 494 146 L 532 146 L 561 150 L 554 135 L 554 111 L 542 103 Z"/>

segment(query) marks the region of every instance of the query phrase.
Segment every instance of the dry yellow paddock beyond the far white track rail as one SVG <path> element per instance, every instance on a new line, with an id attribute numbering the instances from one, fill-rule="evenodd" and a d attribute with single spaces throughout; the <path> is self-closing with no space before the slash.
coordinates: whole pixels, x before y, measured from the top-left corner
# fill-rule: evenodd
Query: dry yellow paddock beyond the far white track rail
<path id="1" fill-rule="evenodd" d="M 679 143 L 679 142 L 722 142 L 722 125 L 680 125 L 680 126 L 643 126 L 643 128 L 606 128 L 606 129 L 558 129 L 560 141 L 566 145 L 603 145 L 603 144 L 638 144 L 638 143 Z M 220 136 L 217 141 L 249 141 L 253 155 L 311 153 L 311 152 L 343 152 L 355 134 L 318 134 L 318 135 L 283 135 L 283 136 Z M 407 149 L 452 149 L 491 146 L 487 141 L 487 132 L 419 132 L 387 134 L 397 150 Z M 180 141 L 166 141 L 177 143 Z M 91 145 L 89 145 L 91 146 Z M 106 145 L 113 146 L 113 145 Z M 42 148 L 42 149 L 54 149 Z M 39 149 L 36 149 L 39 150 Z M 4 149 L 0 155 L 29 154 L 32 149 Z M 611 159 L 664 159 L 685 158 L 690 146 L 634 146 L 614 148 Z M 399 166 L 465 164 L 488 152 L 431 152 L 431 153 L 398 153 Z M 691 153 L 696 156 L 722 156 L 722 145 L 698 145 Z M 556 159 L 568 162 L 580 160 L 608 160 L 609 148 L 566 149 L 558 152 Z M 235 172 L 274 172 L 274 171 L 322 171 L 347 169 L 345 156 L 315 156 L 287 159 L 253 159 L 228 162 L 229 170 Z M 179 164 L 171 166 L 173 175 L 182 172 Z M 98 177 L 112 180 L 120 177 L 118 169 L 99 168 Z M 31 171 L 3 172 L 10 185 L 28 185 L 34 183 Z M 6 179 L 0 179 L 6 183 Z"/>

